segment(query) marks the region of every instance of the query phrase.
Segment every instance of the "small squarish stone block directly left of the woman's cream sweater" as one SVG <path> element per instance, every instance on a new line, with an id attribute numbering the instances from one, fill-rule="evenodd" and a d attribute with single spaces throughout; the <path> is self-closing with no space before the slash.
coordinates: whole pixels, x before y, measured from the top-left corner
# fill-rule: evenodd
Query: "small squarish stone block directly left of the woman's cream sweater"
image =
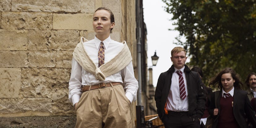
<path id="1" fill-rule="evenodd" d="M 72 54 L 73 51 L 57 51 L 56 67 L 71 68 Z"/>

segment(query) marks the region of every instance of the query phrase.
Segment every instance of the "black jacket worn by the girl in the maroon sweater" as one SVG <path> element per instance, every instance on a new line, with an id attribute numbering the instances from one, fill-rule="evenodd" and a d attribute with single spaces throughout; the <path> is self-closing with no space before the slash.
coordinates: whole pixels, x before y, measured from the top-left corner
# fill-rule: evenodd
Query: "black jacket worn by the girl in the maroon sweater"
<path id="1" fill-rule="evenodd" d="M 220 97 L 222 97 L 222 93 L 220 91 L 219 96 L 217 98 L 217 102 L 215 106 L 215 92 L 211 95 L 211 104 L 209 108 L 209 113 L 211 117 L 214 119 L 212 124 L 212 128 L 217 128 L 218 126 L 218 119 L 220 115 Z M 213 115 L 213 110 L 219 109 L 219 114 L 217 116 Z M 247 128 L 246 117 L 248 118 L 249 122 L 256 127 L 256 117 L 255 112 L 253 111 L 252 106 L 250 105 L 249 98 L 247 96 L 247 92 L 241 89 L 234 88 L 234 95 L 233 95 L 233 113 L 234 117 L 237 120 L 237 123 L 241 128 Z"/>

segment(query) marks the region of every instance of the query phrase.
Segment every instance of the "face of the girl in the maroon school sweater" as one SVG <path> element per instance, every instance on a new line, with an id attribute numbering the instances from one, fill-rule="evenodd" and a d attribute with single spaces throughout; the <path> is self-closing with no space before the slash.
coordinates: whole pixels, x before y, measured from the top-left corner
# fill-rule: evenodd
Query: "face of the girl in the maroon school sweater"
<path id="1" fill-rule="evenodd" d="M 230 73 L 221 75 L 221 84 L 225 92 L 229 92 L 234 87 L 235 80 Z"/>

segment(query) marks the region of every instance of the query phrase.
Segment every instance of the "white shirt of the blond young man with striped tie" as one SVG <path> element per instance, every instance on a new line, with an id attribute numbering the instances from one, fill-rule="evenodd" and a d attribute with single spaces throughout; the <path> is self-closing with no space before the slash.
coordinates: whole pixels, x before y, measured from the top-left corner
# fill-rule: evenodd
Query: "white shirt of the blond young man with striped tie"
<path id="1" fill-rule="evenodd" d="M 182 76 L 184 79 L 185 90 L 186 90 L 186 98 L 184 100 L 180 97 L 180 83 L 179 83 L 179 75 L 176 73 L 178 70 L 174 67 L 174 72 L 172 76 L 172 83 L 171 88 L 168 94 L 167 106 L 166 109 L 168 111 L 175 111 L 175 112 L 187 112 L 188 111 L 188 89 L 187 89 L 187 81 L 186 75 L 184 73 L 185 66 L 181 68 Z"/>

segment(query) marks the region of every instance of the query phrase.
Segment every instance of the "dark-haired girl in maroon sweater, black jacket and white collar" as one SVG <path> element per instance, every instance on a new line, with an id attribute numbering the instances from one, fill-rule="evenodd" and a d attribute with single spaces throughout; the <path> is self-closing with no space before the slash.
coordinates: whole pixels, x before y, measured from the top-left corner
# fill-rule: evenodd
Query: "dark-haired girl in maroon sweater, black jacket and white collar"
<path id="1" fill-rule="evenodd" d="M 214 119 L 212 128 L 247 128 L 246 117 L 256 127 L 255 112 L 250 105 L 247 92 L 241 90 L 243 84 L 239 75 L 226 68 L 210 81 L 218 85 L 220 91 L 213 92 L 209 113 Z M 217 93 L 218 92 L 218 93 Z M 218 94 L 215 106 L 215 94 Z"/>

